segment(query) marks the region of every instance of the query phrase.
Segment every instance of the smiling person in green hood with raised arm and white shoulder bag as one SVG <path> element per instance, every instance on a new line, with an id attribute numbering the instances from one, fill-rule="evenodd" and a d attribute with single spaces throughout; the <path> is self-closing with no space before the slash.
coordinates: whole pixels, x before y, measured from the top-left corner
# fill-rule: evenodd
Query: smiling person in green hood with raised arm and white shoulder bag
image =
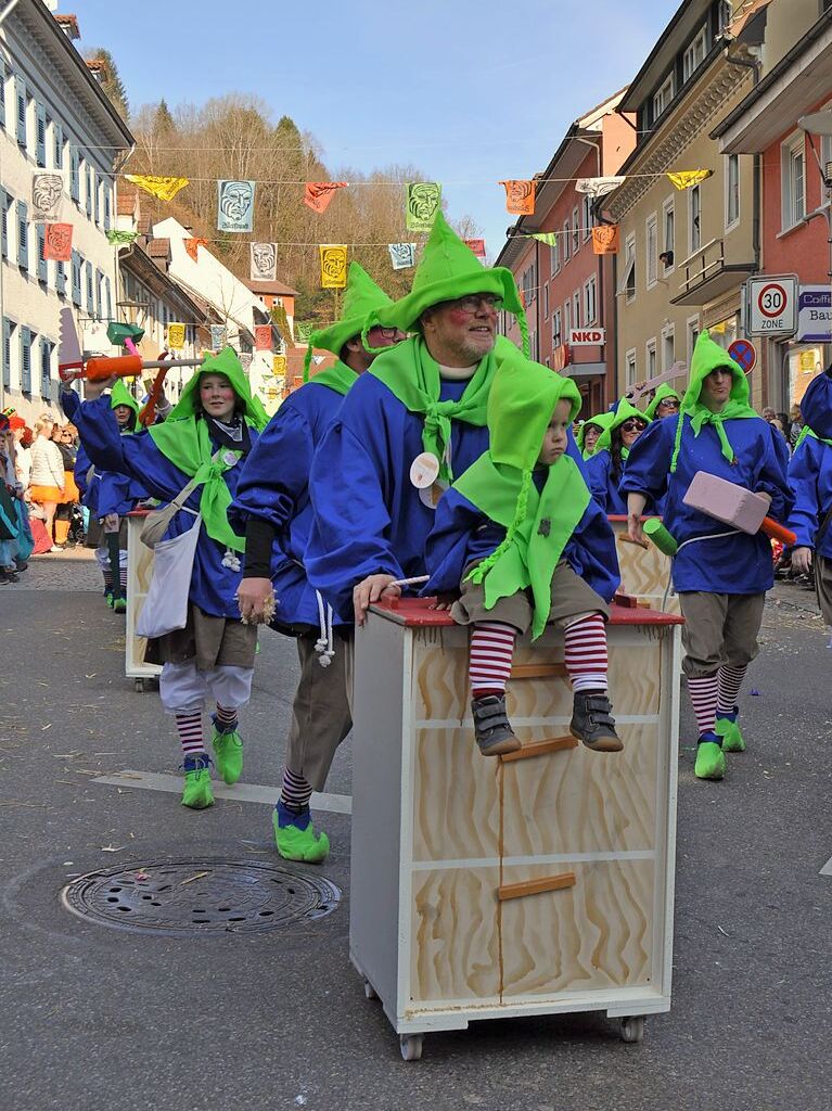
<path id="1" fill-rule="evenodd" d="M 122 437 L 107 398 L 108 382 L 88 382 L 81 403 L 71 391 L 63 408 L 78 427 L 97 467 L 143 483 L 148 492 L 170 503 L 192 479 L 197 486 L 171 519 L 164 539 L 194 527 L 201 516 L 184 629 L 148 645 L 147 658 L 162 664 L 159 692 L 167 713 L 177 721 L 182 744 L 182 803 L 210 807 L 210 760 L 202 731 L 202 708 L 215 703 L 212 742 L 217 768 L 227 783 L 242 772 L 242 739 L 238 711 L 251 695 L 257 627 L 243 624 L 237 602 L 244 538 L 228 521 L 244 459 L 268 418 L 251 394 L 235 352 L 225 348 L 206 359 L 162 424 Z"/>

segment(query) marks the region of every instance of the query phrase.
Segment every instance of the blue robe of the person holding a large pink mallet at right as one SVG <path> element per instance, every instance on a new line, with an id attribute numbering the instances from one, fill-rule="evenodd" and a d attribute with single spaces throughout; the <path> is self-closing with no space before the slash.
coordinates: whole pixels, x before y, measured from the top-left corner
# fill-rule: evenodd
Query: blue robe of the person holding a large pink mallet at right
<path id="1" fill-rule="evenodd" d="M 683 416 L 682 440 L 676 470 L 670 473 L 676 419 L 654 421 L 630 449 L 621 480 L 622 494 L 642 493 L 664 502 L 664 524 L 678 544 L 693 537 L 710 537 L 730 528 L 721 521 L 691 509 L 682 501 L 696 471 L 708 471 L 754 493 L 771 496 L 769 513 L 784 521 L 792 504 L 786 481 L 789 449 L 785 440 L 762 418 L 742 418 L 724 422 L 725 434 L 734 449 L 736 463 L 722 454 L 716 431 L 705 424 L 694 437 L 690 417 Z M 676 591 L 701 590 L 718 594 L 759 594 L 774 584 L 771 543 L 759 532 L 744 532 L 719 540 L 698 540 L 686 544 L 673 559 L 673 585 Z"/>

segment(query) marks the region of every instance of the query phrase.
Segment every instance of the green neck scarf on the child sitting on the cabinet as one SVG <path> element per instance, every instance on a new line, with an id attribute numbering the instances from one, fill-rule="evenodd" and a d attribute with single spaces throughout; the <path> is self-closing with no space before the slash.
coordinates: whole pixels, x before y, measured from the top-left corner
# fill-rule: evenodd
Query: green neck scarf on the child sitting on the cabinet
<path id="1" fill-rule="evenodd" d="M 485 605 L 531 587 L 532 639 L 545 629 L 552 575 L 569 538 L 590 503 L 589 488 L 571 456 L 549 468 L 541 493 L 531 471 L 494 463 L 488 452 L 454 482 L 454 489 L 508 531 L 505 540 L 468 575 L 485 584 Z"/>

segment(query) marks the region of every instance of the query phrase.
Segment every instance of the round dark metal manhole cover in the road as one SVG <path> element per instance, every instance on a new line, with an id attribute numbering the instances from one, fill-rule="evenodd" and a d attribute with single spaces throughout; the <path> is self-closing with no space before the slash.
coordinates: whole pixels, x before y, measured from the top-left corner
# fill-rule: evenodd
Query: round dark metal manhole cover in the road
<path id="1" fill-rule="evenodd" d="M 341 892 L 329 880 L 239 860 L 148 861 L 81 875 L 67 910 L 99 925 L 173 937 L 260 933 L 322 918 Z"/>

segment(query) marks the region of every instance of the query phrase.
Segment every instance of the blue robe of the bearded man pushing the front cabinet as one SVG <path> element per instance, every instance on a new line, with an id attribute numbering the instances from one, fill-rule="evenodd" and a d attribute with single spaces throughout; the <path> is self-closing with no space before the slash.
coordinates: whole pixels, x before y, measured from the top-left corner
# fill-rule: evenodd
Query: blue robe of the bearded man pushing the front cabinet
<path id="1" fill-rule="evenodd" d="M 440 400 L 459 401 L 467 382 L 441 382 Z M 451 466 L 461 474 L 488 448 L 488 429 L 451 422 Z M 410 467 L 424 451 L 422 417 L 374 374 L 351 388 L 312 463 L 314 510 L 307 548 L 309 581 L 340 613 L 369 574 L 424 574 L 424 541 L 434 510 L 419 498 Z"/>

